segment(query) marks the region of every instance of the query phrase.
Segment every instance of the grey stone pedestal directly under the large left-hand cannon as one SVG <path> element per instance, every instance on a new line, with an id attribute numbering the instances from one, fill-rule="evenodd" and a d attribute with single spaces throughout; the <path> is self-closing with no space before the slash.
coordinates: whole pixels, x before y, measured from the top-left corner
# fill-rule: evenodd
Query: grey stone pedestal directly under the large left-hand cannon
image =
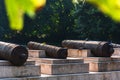
<path id="1" fill-rule="evenodd" d="M 0 60 L 0 78 L 40 76 L 40 66 L 34 61 L 27 61 L 23 66 L 13 66 L 6 60 Z"/>

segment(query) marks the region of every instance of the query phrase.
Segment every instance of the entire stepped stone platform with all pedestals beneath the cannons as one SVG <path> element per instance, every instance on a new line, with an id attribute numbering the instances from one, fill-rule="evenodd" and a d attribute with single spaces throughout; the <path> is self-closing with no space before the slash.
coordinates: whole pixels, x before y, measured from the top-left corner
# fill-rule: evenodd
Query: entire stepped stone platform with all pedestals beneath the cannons
<path id="1" fill-rule="evenodd" d="M 29 59 L 20 67 L 0 60 L 0 80 L 120 80 L 118 56 L 101 58 L 93 57 L 89 50 L 68 51 L 67 59 L 43 58 L 44 51 L 30 51 Z"/>

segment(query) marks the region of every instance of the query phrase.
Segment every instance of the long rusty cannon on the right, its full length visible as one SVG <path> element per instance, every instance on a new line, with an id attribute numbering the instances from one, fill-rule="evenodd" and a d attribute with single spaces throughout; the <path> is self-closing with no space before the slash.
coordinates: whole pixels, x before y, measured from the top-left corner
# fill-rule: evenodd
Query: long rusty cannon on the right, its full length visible
<path id="1" fill-rule="evenodd" d="M 96 57 L 110 57 L 114 52 L 110 43 L 102 41 L 64 40 L 62 46 L 73 49 L 90 49 Z"/>

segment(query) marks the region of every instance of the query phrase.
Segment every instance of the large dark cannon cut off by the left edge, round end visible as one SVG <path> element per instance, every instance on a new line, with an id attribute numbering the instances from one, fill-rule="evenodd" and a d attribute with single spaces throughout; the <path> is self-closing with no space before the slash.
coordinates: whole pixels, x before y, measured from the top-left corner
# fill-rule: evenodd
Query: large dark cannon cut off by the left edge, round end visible
<path id="1" fill-rule="evenodd" d="M 25 47 L 0 41 L 0 59 L 8 60 L 15 66 L 21 66 L 27 58 L 28 50 Z"/>

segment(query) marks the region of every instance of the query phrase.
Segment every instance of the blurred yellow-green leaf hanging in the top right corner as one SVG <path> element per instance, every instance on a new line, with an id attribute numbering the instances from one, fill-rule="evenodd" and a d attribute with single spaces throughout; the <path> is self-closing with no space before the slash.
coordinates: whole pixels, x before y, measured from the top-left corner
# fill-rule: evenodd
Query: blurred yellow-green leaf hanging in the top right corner
<path id="1" fill-rule="evenodd" d="M 86 0 L 97 6 L 103 13 L 120 22 L 120 0 Z"/>

